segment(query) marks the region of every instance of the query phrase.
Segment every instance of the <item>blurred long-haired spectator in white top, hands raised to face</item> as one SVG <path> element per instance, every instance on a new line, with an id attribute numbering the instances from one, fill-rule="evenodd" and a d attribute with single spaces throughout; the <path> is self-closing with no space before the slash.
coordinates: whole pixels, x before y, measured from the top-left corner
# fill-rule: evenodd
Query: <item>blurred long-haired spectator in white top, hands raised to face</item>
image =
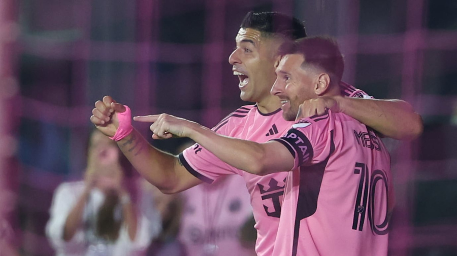
<path id="1" fill-rule="evenodd" d="M 114 141 L 91 133 L 84 180 L 54 192 L 46 235 L 56 255 L 145 255 L 160 216 L 122 157 Z"/>

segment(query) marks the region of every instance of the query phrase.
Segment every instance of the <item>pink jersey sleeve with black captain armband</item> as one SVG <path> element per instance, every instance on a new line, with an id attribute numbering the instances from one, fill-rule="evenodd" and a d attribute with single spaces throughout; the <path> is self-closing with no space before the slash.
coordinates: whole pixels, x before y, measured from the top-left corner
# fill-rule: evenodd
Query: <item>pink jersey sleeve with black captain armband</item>
<path id="1" fill-rule="evenodd" d="M 329 112 L 300 119 L 280 138 L 272 139 L 283 144 L 295 159 L 292 170 L 319 163 L 329 156 L 329 121 Z"/>

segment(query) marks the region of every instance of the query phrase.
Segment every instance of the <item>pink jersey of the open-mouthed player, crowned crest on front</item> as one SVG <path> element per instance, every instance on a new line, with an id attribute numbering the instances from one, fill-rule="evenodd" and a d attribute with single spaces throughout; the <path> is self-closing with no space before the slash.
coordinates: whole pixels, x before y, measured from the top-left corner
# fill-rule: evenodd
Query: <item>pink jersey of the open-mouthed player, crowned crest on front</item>
<path id="1" fill-rule="evenodd" d="M 366 97 L 365 92 L 342 83 L 342 95 Z M 284 134 L 294 122 L 285 121 L 281 109 L 262 114 L 256 105 L 238 108 L 217 124 L 213 130 L 219 134 L 255 142 L 266 142 Z M 205 182 L 230 174 L 241 175 L 251 196 L 251 205 L 257 230 L 255 251 L 258 256 L 270 256 L 278 231 L 282 195 L 284 194 L 286 172 L 266 176 L 254 175 L 236 169 L 219 160 L 211 152 L 194 144 L 180 154 L 180 160 L 187 170 Z"/>

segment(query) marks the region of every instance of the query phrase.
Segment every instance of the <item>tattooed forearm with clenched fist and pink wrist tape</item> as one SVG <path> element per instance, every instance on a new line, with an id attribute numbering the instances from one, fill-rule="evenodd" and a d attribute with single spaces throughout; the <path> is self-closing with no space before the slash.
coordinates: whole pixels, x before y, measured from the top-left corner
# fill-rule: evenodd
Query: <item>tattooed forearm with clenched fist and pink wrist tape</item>
<path id="1" fill-rule="evenodd" d="M 113 137 L 119 127 L 118 115 L 125 111 L 122 104 L 105 96 L 103 101 L 95 102 L 90 121 L 105 135 Z M 163 193 L 173 194 L 202 182 L 190 174 L 176 156 L 154 148 L 135 129 L 117 144 L 135 169 Z"/>

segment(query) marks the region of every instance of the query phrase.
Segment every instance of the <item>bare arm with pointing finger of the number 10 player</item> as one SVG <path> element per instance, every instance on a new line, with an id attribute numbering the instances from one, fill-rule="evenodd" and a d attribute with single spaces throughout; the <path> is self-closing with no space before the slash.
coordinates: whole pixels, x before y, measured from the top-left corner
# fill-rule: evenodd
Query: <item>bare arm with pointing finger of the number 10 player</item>
<path id="1" fill-rule="evenodd" d="M 290 171 L 294 165 L 290 152 L 277 141 L 257 143 L 226 137 L 198 123 L 167 114 L 135 117 L 134 120 L 153 123 L 150 128 L 154 139 L 173 135 L 189 137 L 225 163 L 253 174 Z"/>

